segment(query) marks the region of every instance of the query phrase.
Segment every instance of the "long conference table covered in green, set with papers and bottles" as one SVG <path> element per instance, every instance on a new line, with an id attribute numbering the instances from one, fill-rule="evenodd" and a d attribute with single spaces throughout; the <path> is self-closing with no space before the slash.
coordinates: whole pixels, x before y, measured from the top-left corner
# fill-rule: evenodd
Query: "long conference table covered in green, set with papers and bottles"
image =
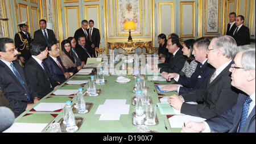
<path id="1" fill-rule="evenodd" d="M 151 77 L 152 75 L 147 75 Z M 132 76 L 125 75 L 123 77 L 131 79 L 128 83 L 117 83 L 115 80 L 119 75 L 106 76 L 107 81 L 105 85 L 96 85 L 97 89 L 101 89 L 101 93 L 98 96 L 85 96 L 86 103 L 93 103 L 92 108 L 88 113 L 80 114 L 74 113 L 75 117 L 83 117 L 82 122 L 77 133 L 137 133 L 137 126 L 132 124 L 132 113 L 135 112 L 135 106 L 132 105 L 132 98 L 135 94 L 132 92 L 135 85 L 135 80 Z M 66 82 L 61 84 L 56 90 L 77 90 L 82 87 L 84 91 L 86 86 L 82 84 L 71 85 L 67 84 L 68 81 L 83 81 L 89 80 L 90 75 L 73 75 Z M 177 92 L 164 92 L 159 93 L 155 89 L 155 84 L 167 84 L 163 81 L 147 81 L 147 86 L 150 87 L 150 96 L 154 104 L 159 103 L 159 98 L 168 96 L 171 94 L 177 94 Z M 65 103 L 67 100 L 72 100 L 72 105 L 75 103 L 73 95 L 53 95 L 53 90 L 48 95 L 44 96 L 38 103 L 34 104 L 30 109 L 23 112 L 22 115 L 15 118 L 15 122 L 24 123 L 36 123 L 36 124 L 48 124 L 42 132 L 49 133 L 49 124 L 52 122 L 59 122 L 63 115 L 61 109 L 52 112 L 35 111 L 36 105 L 40 103 Z M 99 105 L 104 104 L 106 99 L 125 99 L 126 104 L 129 104 L 129 114 L 121 115 L 119 120 L 99 120 L 101 115 L 97 115 L 96 110 Z M 159 133 L 179 133 L 181 128 L 171 128 L 168 118 L 171 116 L 161 115 L 158 107 L 156 107 L 156 116 L 158 117 L 159 124 L 154 126 L 148 126 L 148 129 L 154 130 Z"/>

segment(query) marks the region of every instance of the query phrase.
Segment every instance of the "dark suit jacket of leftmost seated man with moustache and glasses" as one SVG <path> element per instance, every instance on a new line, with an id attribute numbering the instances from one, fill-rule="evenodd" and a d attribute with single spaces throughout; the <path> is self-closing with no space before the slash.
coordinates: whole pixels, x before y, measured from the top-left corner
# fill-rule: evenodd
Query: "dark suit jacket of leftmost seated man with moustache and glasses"
<path id="1" fill-rule="evenodd" d="M 0 87 L 2 88 L 3 95 L 6 96 L 6 99 L 9 101 L 11 107 L 13 107 L 15 115 L 19 116 L 23 113 L 27 104 L 34 103 L 34 98 L 38 96 L 34 89 L 26 81 L 26 77 L 22 67 L 17 62 L 13 62 L 14 67 L 20 74 L 25 87 L 30 95 L 30 100 L 27 99 L 27 93 L 20 84 L 19 80 L 14 75 L 13 71 L 0 60 Z"/>

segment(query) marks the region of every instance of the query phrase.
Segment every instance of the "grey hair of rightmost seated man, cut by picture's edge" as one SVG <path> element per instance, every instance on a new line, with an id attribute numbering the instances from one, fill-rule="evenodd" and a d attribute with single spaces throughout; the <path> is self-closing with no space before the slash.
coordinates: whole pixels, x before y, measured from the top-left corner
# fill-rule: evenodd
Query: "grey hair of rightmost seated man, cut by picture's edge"
<path id="1" fill-rule="evenodd" d="M 242 46 L 241 64 L 245 70 L 255 70 L 255 45 Z"/>

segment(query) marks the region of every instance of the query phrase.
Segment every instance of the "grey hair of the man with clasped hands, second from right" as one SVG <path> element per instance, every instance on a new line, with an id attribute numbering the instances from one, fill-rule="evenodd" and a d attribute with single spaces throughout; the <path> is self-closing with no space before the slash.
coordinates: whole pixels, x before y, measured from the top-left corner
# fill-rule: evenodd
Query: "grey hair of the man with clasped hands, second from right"
<path id="1" fill-rule="evenodd" d="M 222 55 L 226 58 L 234 59 L 234 57 L 236 57 L 238 48 L 236 40 L 234 40 L 233 37 L 224 35 L 214 37 L 213 40 L 214 39 L 216 39 L 216 41 L 214 41 L 213 49 L 221 48 L 223 50 Z"/>

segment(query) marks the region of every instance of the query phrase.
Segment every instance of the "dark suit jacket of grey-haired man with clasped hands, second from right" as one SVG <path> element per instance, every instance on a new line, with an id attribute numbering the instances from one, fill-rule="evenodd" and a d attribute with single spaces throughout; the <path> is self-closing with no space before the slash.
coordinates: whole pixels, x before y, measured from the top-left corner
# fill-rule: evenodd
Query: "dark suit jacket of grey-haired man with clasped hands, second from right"
<path id="1" fill-rule="evenodd" d="M 238 90 L 231 86 L 231 73 L 229 71 L 233 61 L 225 67 L 224 70 L 210 83 L 210 77 L 214 71 L 210 73 L 210 77 L 204 83 L 204 86 L 182 95 L 185 102 L 187 101 L 203 101 L 203 104 L 187 104 L 181 106 L 181 113 L 185 115 L 212 118 L 221 113 L 228 111 L 237 103 Z"/>

